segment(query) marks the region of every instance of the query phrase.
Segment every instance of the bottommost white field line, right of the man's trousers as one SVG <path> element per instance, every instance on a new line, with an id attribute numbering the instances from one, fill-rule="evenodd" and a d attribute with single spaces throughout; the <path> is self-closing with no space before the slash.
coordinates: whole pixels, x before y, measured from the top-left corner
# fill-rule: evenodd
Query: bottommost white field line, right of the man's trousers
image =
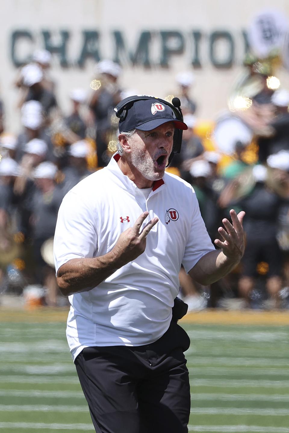
<path id="1" fill-rule="evenodd" d="M 217 433 L 289 433 L 289 428 L 286 427 L 259 427 L 259 426 L 188 426 L 189 432 L 217 432 Z"/>

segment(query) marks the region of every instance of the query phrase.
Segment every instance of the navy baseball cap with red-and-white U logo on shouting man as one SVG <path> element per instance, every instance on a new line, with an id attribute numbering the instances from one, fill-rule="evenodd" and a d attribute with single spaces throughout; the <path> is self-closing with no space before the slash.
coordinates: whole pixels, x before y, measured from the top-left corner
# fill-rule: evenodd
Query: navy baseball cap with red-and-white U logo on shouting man
<path id="1" fill-rule="evenodd" d="M 152 97 L 132 103 L 132 106 L 127 110 L 125 119 L 120 118 L 119 130 L 120 132 L 127 132 L 132 129 L 151 131 L 167 122 L 173 122 L 177 129 L 188 129 L 184 122 L 176 120 L 171 107 Z"/>

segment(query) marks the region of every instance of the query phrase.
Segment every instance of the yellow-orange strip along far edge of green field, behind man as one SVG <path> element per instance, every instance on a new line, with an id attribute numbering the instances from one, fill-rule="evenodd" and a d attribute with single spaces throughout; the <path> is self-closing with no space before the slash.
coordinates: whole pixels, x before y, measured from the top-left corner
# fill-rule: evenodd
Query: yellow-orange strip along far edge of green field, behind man
<path id="1" fill-rule="evenodd" d="M 66 322 L 68 308 L 34 309 L 0 307 L 0 322 Z M 289 311 L 203 310 L 188 313 L 180 321 L 199 324 L 289 325 Z"/>

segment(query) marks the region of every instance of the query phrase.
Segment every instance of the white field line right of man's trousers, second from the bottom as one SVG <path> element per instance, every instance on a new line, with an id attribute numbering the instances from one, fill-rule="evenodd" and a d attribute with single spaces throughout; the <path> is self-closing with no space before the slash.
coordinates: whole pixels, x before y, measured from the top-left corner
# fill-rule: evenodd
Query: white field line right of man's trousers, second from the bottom
<path id="1" fill-rule="evenodd" d="M 36 406 L 37 407 L 37 406 Z M 191 414 L 198 415 L 270 415 L 274 416 L 288 416 L 289 409 L 251 409 L 251 408 L 239 408 L 239 407 L 193 407 Z"/>

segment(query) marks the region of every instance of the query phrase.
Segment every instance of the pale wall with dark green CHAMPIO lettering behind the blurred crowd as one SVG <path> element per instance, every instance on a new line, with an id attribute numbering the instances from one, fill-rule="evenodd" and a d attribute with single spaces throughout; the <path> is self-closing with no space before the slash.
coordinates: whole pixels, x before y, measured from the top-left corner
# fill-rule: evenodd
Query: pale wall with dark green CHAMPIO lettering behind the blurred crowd
<path id="1" fill-rule="evenodd" d="M 214 119 L 226 109 L 234 81 L 242 73 L 250 17 L 271 0 L 26 0 L 5 2 L 0 26 L 0 94 L 7 127 L 19 129 L 15 110 L 17 70 L 35 48 L 53 54 L 51 76 L 60 106 L 68 110 L 68 93 L 91 92 L 94 64 L 104 58 L 123 66 L 123 88 L 166 97 L 176 90 L 175 75 L 195 73 L 192 96 L 198 117 Z M 253 4 L 252 4 L 253 3 Z M 289 2 L 274 7 L 289 18 Z M 288 73 L 278 76 L 289 88 Z"/>

